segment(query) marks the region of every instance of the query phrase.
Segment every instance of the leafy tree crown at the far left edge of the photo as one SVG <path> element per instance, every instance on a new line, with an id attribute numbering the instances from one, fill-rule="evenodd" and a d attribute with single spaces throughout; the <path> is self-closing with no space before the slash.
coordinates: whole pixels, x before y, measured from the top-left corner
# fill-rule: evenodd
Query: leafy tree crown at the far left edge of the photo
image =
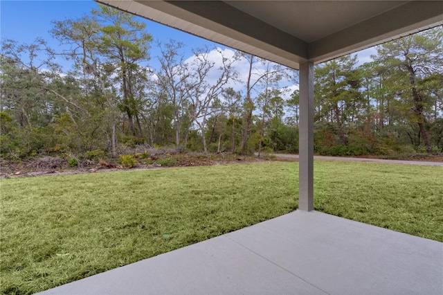
<path id="1" fill-rule="evenodd" d="M 46 89 L 58 71 L 51 49 L 39 38 L 32 44 L 8 39 L 1 52 L 1 108 L 9 109 L 21 127 L 47 125 L 55 102 L 48 100 Z"/>

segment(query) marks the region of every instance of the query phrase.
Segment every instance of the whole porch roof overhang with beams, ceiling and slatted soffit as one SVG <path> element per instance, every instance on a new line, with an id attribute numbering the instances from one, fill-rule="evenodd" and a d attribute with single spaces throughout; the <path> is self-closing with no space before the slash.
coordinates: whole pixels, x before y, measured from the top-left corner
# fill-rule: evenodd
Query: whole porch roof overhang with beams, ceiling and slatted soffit
<path id="1" fill-rule="evenodd" d="M 443 1 L 98 2 L 293 69 L 443 25 Z"/>

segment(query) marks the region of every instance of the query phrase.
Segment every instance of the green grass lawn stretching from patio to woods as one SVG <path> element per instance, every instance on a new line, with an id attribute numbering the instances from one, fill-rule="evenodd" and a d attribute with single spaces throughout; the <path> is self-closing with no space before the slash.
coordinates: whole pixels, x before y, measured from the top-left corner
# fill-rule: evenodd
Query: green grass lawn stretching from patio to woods
<path id="1" fill-rule="evenodd" d="M 443 241 L 443 169 L 315 162 L 317 211 Z M 1 289 L 28 294 L 297 206 L 298 163 L 1 180 Z"/>

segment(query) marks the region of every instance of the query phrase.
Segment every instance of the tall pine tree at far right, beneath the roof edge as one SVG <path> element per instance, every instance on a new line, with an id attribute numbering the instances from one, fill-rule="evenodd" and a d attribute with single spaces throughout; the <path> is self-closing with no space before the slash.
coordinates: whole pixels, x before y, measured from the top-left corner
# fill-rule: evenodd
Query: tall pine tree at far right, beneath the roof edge
<path id="1" fill-rule="evenodd" d="M 410 122 L 419 127 L 426 151 L 431 153 L 426 123 L 433 101 L 426 96 L 430 84 L 424 82 L 443 69 L 443 27 L 410 35 L 377 47 L 374 60 L 389 71 L 390 86 L 401 101 L 402 110 Z"/>

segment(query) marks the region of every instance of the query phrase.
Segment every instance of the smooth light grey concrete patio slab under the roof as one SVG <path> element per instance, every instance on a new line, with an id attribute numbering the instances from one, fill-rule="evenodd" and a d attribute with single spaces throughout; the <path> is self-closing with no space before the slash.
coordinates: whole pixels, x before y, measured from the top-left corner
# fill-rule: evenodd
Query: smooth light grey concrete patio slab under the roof
<path id="1" fill-rule="evenodd" d="M 443 294 L 443 243 L 294 211 L 42 294 Z"/>

